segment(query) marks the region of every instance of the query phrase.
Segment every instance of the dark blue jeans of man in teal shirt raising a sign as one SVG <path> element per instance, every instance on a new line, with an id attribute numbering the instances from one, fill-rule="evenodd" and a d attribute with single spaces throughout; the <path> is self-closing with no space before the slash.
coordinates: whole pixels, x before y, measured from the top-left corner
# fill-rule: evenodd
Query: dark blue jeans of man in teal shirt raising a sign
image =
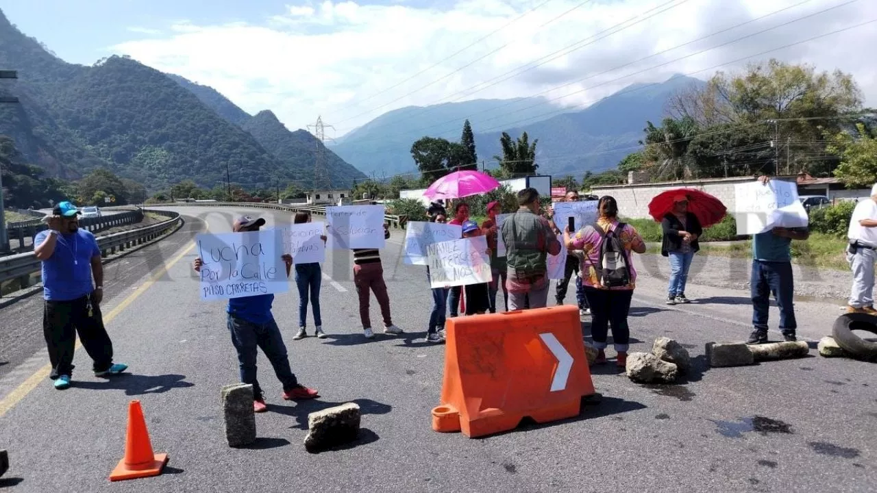
<path id="1" fill-rule="evenodd" d="M 798 324 L 795 321 L 795 280 L 792 262 L 752 261 L 752 325 L 756 330 L 767 330 L 767 314 L 770 310 L 770 295 L 774 293 L 776 304 L 780 307 L 780 330 L 794 334 Z"/>

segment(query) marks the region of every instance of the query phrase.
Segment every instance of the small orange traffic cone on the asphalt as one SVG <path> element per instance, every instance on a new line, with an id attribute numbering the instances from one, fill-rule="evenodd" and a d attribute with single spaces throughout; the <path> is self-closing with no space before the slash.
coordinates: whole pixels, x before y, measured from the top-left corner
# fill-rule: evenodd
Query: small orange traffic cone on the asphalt
<path id="1" fill-rule="evenodd" d="M 112 470 L 110 481 L 160 475 L 168 463 L 168 454 L 153 454 L 153 445 L 146 431 L 146 419 L 140 401 L 128 405 L 128 432 L 125 437 L 125 458 Z"/>

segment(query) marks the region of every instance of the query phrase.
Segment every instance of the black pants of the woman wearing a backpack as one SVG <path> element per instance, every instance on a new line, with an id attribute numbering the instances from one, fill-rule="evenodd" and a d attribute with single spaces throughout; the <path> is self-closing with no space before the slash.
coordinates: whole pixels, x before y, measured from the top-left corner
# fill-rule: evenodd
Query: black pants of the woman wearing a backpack
<path id="1" fill-rule="evenodd" d="M 585 287 L 585 296 L 591 305 L 591 337 L 594 347 L 606 348 L 606 335 L 612 325 L 612 341 L 615 350 L 626 353 L 631 341 L 631 329 L 627 326 L 627 314 L 631 311 L 633 289 L 596 289 Z"/>

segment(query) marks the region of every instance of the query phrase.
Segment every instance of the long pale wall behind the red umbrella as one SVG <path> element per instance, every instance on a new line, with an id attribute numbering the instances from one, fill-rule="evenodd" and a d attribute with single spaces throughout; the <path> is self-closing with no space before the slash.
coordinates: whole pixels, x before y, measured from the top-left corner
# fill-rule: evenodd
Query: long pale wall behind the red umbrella
<path id="1" fill-rule="evenodd" d="M 795 176 L 779 176 L 774 180 L 795 182 Z M 668 189 L 699 189 L 722 201 L 728 211 L 734 211 L 736 183 L 752 182 L 752 177 L 713 178 L 708 180 L 689 180 L 683 182 L 633 183 L 628 185 L 605 185 L 593 187 L 596 196 L 610 195 L 618 201 L 619 213 L 624 218 L 649 218 L 649 203 L 652 198 Z"/>

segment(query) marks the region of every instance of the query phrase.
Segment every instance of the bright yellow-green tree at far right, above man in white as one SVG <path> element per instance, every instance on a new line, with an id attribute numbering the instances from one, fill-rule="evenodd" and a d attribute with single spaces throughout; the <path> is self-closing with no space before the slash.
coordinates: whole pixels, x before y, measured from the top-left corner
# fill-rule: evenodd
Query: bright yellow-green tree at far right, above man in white
<path id="1" fill-rule="evenodd" d="M 826 135 L 831 141 L 827 150 L 840 156 L 840 164 L 834 175 L 847 188 L 867 188 L 877 182 L 877 139 L 866 131 L 863 124 L 856 125 L 859 138 L 848 132 L 839 132 L 833 137 Z"/>

